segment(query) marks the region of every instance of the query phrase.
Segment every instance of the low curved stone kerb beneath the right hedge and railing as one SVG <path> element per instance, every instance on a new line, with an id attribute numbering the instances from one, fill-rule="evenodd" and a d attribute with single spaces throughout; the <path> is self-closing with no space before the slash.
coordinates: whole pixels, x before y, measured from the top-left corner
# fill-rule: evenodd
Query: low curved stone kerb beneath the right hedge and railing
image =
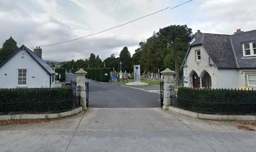
<path id="1" fill-rule="evenodd" d="M 186 111 L 178 107 L 169 106 L 169 110 L 200 119 L 211 119 L 211 120 L 250 120 L 256 121 L 256 116 L 252 115 L 212 115 L 212 114 L 202 114 L 191 111 Z"/>

